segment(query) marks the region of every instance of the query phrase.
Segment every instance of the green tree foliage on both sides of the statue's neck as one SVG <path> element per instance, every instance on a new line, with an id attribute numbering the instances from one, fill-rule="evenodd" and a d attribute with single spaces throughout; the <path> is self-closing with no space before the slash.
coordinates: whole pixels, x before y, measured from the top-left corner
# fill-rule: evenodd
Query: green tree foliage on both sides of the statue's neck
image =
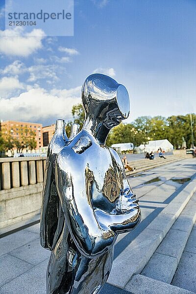
<path id="1" fill-rule="evenodd" d="M 84 123 L 85 114 L 82 104 L 73 106 L 73 119 L 75 123 L 81 126 Z M 196 145 L 196 114 L 192 114 L 194 142 Z M 168 118 L 162 116 L 142 116 L 132 123 L 121 123 L 114 127 L 107 138 L 107 145 L 115 143 L 132 142 L 134 146 L 146 144 L 150 140 L 168 139 L 174 148 L 182 147 L 183 140 L 187 147 L 192 146 L 192 131 L 190 114 L 171 116 Z"/>

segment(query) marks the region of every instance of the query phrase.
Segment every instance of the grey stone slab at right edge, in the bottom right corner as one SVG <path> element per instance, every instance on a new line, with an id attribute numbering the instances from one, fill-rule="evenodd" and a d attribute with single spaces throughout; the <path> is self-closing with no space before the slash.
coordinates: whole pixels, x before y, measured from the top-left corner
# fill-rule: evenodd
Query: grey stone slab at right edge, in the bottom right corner
<path id="1" fill-rule="evenodd" d="M 184 251 L 172 285 L 196 292 L 196 254 Z"/>

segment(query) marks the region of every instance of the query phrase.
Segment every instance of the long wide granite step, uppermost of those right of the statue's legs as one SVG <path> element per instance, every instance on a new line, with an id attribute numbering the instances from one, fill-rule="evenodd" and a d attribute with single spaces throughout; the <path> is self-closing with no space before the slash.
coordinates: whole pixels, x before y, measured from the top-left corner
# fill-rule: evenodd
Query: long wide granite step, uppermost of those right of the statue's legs
<path id="1" fill-rule="evenodd" d="M 196 176 L 117 256 L 107 281 L 109 284 L 124 288 L 134 274 L 141 273 L 195 191 Z"/>

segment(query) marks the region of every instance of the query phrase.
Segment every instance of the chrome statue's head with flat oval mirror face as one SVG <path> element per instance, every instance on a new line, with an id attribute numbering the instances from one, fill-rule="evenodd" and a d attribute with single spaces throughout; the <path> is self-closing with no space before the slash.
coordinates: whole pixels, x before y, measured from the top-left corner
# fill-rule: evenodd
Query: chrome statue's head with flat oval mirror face
<path id="1" fill-rule="evenodd" d="M 107 129 L 128 118 L 130 102 L 126 88 L 100 73 L 89 75 L 82 86 L 82 103 L 86 116 Z"/>

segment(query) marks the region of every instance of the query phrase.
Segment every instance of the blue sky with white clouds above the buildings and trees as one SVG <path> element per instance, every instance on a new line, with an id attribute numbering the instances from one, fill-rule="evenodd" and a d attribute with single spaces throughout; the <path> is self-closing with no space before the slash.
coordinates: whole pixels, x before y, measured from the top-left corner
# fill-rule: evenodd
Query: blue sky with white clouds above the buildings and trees
<path id="1" fill-rule="evenodd" d="M 93 72 L 126 86 L 127 122 L 196 112 L 195 0 L 75 0 L 73 37 L 5 37 L 2 20 L 0 119 L 69 120 Z"/>

